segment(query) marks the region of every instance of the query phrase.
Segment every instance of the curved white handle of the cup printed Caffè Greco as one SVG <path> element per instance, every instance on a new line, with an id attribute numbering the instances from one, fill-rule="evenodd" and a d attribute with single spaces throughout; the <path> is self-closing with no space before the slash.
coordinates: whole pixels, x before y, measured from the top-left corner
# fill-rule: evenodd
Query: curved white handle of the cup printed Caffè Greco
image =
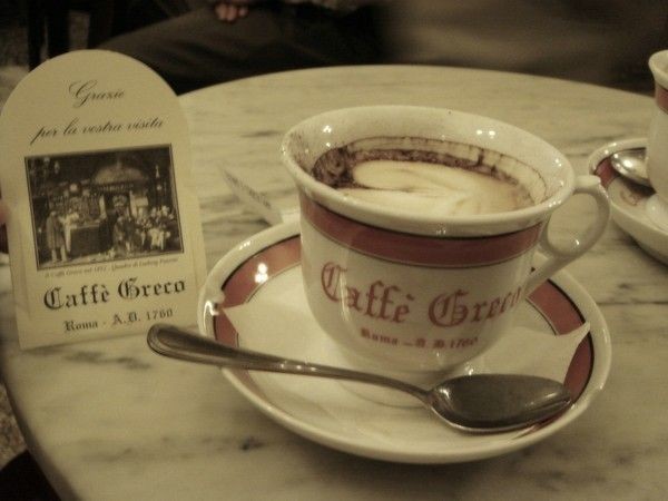
<path id="1" fill-rule="evenodd" d="M 548 220 L 548 224 L 540 236 L 540 246 L 548 255 L 548 259 L 529 275 L 527 284 L 524 285 L 524 297 L 557 273 L 557 271 L 589 250 L 606 230 L 606 226 L 610 218 L 610 203 L 608 200 L 607 191 L 601 186 L 600 178 L 592 175 L 578 176 L 576 178 L 576 189 L 573 190 L 573 195 L 579 194 L 589 195 L 595 199 L 597 205 L 596 219 L 581 234 L 577 235 L 571 242 L 564 244 L 552 242 L 550 238 L 550 224 Z"/>

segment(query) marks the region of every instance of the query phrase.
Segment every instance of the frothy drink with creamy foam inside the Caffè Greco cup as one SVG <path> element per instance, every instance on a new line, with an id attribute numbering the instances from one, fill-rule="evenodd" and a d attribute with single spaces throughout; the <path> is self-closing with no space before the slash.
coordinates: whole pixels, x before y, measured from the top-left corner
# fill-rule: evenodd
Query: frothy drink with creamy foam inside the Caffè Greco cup
<path id="1" fill-rule="evenodd" d="M 384 139 L 383 148 L 362 149 L 362 145 L 352 144 L 332 149 L 317 159 L 312 175 L 351 197 L 411 213 L 469 216 L 534 204 L 524 186 L 490 165 L 492 157 L 478 148 L 461 145 L 462 156 L 455 156 L 443 150 L 406 149 L 410 140 L 401 141 L 400 148 L 387 148 Z M 364 143 L 371 146 L 374 141 Z"/>

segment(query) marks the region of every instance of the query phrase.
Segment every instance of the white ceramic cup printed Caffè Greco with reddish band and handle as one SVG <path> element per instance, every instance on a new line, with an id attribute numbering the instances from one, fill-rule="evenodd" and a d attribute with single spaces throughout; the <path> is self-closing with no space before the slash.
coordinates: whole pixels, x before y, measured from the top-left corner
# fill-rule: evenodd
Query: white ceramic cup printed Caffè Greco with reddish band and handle
<path id="1" fill-rule="evenodd" d="M 428 138 L 455 156 L 482 154 L 536 204 L 488 215 L 410 214 L 351 198 L 310 174 L 324 153 L 371 137 L 404 147 L 406 137 Z M 413 381 L 490 346 L 527 294 L 589 249 L 609 217 L 598 177 L 576 177 L 542 139 L 470 114 L 406 106 L 334 110 L 292 128 L 282 151 L 299 191 L 302 269 L 315 318 L 352 365 Z M 548 222 L 573 194 L 591 196 L 597 217 L 558 245 Z M 548 259 L 532 271 L 539 243 Z"/>

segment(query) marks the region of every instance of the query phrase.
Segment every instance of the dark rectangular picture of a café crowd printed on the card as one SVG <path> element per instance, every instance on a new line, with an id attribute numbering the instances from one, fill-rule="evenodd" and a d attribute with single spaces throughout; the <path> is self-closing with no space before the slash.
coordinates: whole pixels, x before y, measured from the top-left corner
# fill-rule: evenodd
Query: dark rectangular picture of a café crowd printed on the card
<path id="1" fill-rule="evenodd" d="M 38 269 L 181 253 L 169 146 L 26 158 Z"/>

